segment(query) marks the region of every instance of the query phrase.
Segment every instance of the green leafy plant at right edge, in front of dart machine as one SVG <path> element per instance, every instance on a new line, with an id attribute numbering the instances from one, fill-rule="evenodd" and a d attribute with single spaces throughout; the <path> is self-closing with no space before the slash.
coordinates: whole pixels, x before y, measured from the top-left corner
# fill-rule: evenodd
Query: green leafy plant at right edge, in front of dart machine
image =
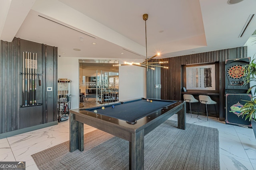
<path id="1" fill-rule="evenodd" d="M 250 64 L 244 66 L 244 84 L 256 82 L 256 60 L 253 59 Z M 256 137 L 256 85 L 251 86 L 247 94 L 252 92 L 252 100 L 246 101 L 246 104 L 241 108 L 242 117 L 245 116 L 245 120 L 249 119 L 252 123 L 252 129 Z"/>

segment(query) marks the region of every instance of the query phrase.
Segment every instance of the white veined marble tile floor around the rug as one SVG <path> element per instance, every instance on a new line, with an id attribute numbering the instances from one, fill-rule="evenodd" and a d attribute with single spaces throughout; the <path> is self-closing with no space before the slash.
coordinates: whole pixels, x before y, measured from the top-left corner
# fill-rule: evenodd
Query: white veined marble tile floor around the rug
<path id="1" fill-rule="evenodd" d="M 170 117 L 177 120 L 177 115 Z M 216 117 L 186 115 L 187 123 L 213 127 L 219 130 L 220 169 L 256 170 L 256 139 L 253 130 L 226 125 Z M 84 133 L 95 128 L 84 125 Z M 0 139 L 0 161 L 26 161 L 26 170 L 37 170 L 31 155 L 69 140 L 69 121 L 58 125 Z M 203 141 L 202 141 L 203 142 Z"/>

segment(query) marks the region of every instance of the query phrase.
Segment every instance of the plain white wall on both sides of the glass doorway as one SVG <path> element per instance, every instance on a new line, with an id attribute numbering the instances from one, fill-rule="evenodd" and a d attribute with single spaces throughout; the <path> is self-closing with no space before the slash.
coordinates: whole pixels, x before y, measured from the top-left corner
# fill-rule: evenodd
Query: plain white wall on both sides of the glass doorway
<path id="1" fill-rule="evenodd" d="M 79 108 L 78 59 L 80 58 L 58 57 L 58 78 L 68 78 L 69 80 L 72 80 L 71 109 Z M 119 60 L 119 63 L 123 64 L 124 61 L 142 62 L 142 60 L 122 59 Z M 119 66 L 119 101 L 142 97 L 146 97 L 145 68 L 142 68 L 140 66 Z"/>

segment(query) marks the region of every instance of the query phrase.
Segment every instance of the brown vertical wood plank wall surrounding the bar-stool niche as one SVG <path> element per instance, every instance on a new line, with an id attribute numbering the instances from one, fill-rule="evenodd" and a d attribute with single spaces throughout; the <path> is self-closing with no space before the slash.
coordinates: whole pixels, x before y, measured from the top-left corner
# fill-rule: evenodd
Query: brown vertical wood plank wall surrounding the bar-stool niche
<path id="1" fill-rule="evenodd" d="M 225 118 L 225 60 L 247 57 L 247 47 L 237 47 L 193 55 L 170 57 L 169 69 L 161 68 L 161 99 L 182 100 L 181 97 L 181 68 L 185 64 L 219 62 L 219 91 L 220 91 L 220 118 Z M 152 79 L 152 77 L 147 77 Z M 154 78 L 155 79 L 155 78 Z M 147 82 L 150 82 L 149 80 Z"/>

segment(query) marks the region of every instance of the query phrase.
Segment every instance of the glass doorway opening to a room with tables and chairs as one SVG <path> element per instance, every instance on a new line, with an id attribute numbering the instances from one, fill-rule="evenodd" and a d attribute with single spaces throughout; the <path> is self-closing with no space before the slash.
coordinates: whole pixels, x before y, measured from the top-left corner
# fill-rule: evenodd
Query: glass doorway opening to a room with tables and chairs
<path id="1" fill-rule="evenodd" d="M 116 60 L 79 60 L 79 107 L 118 102 L 119 68 Z"/>

